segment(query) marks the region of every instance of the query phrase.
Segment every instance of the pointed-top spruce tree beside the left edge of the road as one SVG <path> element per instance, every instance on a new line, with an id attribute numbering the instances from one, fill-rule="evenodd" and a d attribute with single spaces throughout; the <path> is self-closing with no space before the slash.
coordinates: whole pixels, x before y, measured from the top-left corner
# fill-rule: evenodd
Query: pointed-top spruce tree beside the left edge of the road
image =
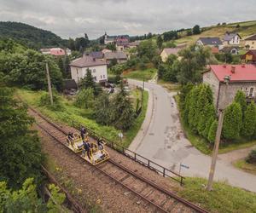
<path id="1" fill-rule="evenodd" d="M 128 130 L 135 120 L 131 100 L 121 83 L 121 89 L 112 101 L 113 125 L 119 130 Z"/>

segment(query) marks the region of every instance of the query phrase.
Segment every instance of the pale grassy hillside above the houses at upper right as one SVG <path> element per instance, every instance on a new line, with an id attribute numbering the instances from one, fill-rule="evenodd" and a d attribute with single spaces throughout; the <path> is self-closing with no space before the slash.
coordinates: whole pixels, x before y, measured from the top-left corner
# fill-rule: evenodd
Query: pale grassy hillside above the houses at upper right
<path id="1" fill-rule="evenodd" d="M 239 25 L 240 27 L 236 27 Z M 243 21 L 243 22 L 236 22 L 230 23 L 227 25 L 220 25 L 220 26 L 209 26 L 203 27 L 202 32 L 200 35 L 193 35 L 193 36 L 184 36 L 175 41 L 175 43 L 195 43 L 195 41 L 199 37 L 224 37 L 225 32 L 238 32 L 242 38 L 248 37 L 256 33 L 256 20 L 251 21 Z M 182 32 L 180 35 L 186 32 Z"/>

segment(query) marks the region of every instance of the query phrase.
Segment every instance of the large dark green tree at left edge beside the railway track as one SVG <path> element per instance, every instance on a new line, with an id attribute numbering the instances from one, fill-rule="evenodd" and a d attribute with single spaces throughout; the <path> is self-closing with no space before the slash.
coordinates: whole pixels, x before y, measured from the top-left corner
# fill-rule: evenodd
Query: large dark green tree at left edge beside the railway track
<path id="1" fill-rule="evenodd" d="M 0 180 L 10 187 L 20 187 L 27 177 L 41 180 L 43 154 L 33 119 L 26 107 L 15 101 L 13 91 L 0 87 Z"/>

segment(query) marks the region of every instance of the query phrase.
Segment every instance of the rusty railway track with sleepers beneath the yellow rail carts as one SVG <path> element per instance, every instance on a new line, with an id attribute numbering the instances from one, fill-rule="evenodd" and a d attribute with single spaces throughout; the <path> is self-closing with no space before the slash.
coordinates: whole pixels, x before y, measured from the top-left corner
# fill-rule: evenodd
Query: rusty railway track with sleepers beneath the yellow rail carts
<path id="1" fill-rule="evenodd" d="M 67 148 L 67 130 L 62 129 L 60 126 L 52 123 L 48 118 L 35 111 L 30 107 L 30 114 L 36 118 L 36 124 L 47 134 L 49 134 L 55 141 Z M 76 157 L 81 158 L 79 153 L 73 153 Z M 84 164 L 89 164 L 84 160 Z M 145 208 L 150 208 L 156 212 L 204 212 L 201 207 L 182 199 L 177 194 L 158 186 L 153 181 L 148 180 L 144 176 L 138 175 L 137 172 L 127 169 L 122 164 L 115 162 L 113 159 L 108 159 L 107 162 L 98 164 L 95 167 L 95 175 L 97 177 L 108 176 L 111 181 L 115 181 L 122 187 L 125 187 L 129 193 L 135 194 L 142 200 L 137 204 L 144 204 Z"/>

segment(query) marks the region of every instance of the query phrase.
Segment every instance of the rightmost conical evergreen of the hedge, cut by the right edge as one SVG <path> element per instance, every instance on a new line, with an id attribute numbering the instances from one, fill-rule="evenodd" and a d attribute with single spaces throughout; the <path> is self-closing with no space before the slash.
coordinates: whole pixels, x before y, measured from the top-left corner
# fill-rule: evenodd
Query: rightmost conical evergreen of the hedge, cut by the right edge
<path id="1" fill-rule="evenodd" d="M 237 94 L 236 94 L 237 95 Z M 256 106 L 254 102 L 247 106 L 241 128 L 241 135 L 252 138 L 256 133 Z"/>

